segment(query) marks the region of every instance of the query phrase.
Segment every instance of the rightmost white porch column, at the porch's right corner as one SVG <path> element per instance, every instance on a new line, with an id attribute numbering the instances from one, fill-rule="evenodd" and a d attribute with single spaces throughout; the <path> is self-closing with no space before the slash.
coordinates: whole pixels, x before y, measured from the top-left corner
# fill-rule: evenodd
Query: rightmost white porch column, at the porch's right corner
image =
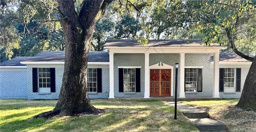
<path id="1" fill-rule="evenodd" d="M 219 59 L 220 55 L 219 52 L 214 53 L 214 66 L 213 66 L 213 98 L 220 98 L 220 93 L 219 93 L 219 77 L 220 77 L 220 69 L 219 69 Z"/>

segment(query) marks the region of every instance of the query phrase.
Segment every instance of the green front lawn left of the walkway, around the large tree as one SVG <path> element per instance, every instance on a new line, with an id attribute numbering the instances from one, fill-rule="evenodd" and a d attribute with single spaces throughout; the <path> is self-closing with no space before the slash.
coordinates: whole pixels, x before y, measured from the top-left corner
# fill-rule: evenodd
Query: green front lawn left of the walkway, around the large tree
<path id="1" fill-rule="evenodd" d="M 178 111 L 174 120 L 174 108 L 154 99 L 96 99 L 91 100 L 96 108 L 104 109 L 98 115 L 79 117 L 54 116 L 32 118 L 52 110 L 57 100 L 0 100 L 1 132 L 191 132 L 196 126 Z"/>

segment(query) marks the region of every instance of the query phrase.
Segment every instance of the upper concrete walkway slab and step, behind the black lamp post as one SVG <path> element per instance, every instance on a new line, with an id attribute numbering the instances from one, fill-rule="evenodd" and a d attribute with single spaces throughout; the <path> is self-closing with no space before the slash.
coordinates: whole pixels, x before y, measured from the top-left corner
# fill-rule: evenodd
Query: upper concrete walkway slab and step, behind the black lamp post
<path id="1" fill-rule="evenodd" d="M 174 101 L 164 101 L 167 104 L 170 104 L 171 106 L 174 106 Z M 207 111 L 201 110 L 199 108 L 195 108 L 193 106 L 183 104 L 178 102 L 177 108 L 183 112 L 185 116 L 188 118 L 209 118 L 209 113 Z"/>

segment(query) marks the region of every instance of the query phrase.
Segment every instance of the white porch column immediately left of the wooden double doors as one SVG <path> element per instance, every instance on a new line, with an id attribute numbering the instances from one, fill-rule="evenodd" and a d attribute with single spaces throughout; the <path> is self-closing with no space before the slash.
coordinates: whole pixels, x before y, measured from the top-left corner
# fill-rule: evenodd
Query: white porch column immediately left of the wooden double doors
<path id="1" fill-rule="evenodd" d="M 145 54 L 145 93 L 144 98 L 149 98 L 149 53 Z"/>

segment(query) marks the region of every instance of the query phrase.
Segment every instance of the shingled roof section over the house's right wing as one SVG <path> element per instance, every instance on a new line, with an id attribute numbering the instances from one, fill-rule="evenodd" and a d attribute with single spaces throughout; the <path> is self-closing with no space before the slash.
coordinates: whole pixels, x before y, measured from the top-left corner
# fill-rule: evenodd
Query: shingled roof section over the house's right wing
<path id="1" fill-rule="evenodd" d="M 213 61 L 213 56 L 210 58 Z M 222 51 L 220 52 L 220 61 L 224 62 L 250 62 L 239 55 L 237 55 L 234 51 Z"/>

